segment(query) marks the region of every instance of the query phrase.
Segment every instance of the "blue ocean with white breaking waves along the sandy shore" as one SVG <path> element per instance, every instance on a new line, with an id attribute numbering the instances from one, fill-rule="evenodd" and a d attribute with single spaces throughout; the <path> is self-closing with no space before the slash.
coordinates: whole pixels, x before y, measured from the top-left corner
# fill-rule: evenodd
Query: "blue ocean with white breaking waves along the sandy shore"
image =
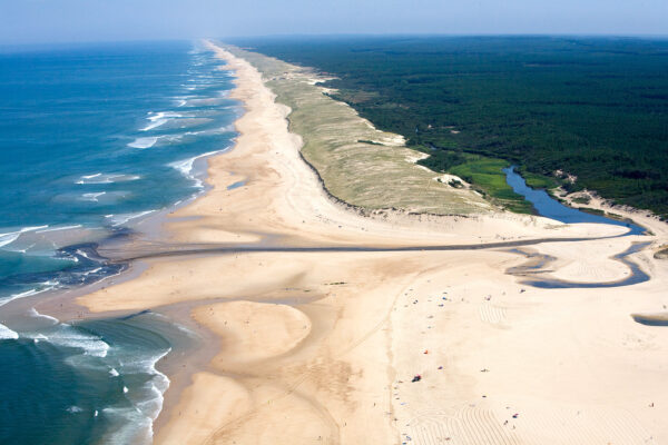
<path id="1" fill-rule="evenodd" d="M 169 384 L 156 364 L 193 334 L 150 312 L 75 323 L 11 301 L 121 273 L 100 243 L 205 190 L 203 160 L 243 112 L 219 65 L 191 42 L 0 50 L 1 444 L 151 442 Z"/>

